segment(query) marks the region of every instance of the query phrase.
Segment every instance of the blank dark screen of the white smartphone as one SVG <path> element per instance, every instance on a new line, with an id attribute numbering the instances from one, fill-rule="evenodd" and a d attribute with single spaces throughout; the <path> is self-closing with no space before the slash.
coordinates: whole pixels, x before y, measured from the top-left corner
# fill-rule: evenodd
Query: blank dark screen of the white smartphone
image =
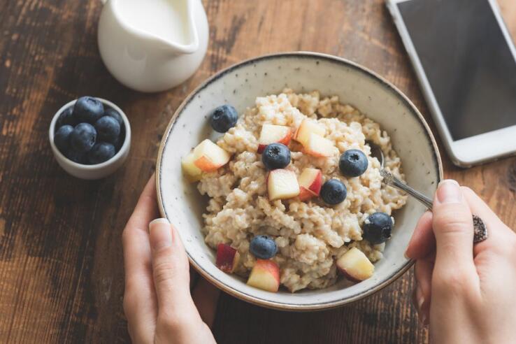
<path id="1" fill-rule="evenodd" d="M 489 1 L 398 7 L 453 140 L 516 125 L 516 61 Z"/>

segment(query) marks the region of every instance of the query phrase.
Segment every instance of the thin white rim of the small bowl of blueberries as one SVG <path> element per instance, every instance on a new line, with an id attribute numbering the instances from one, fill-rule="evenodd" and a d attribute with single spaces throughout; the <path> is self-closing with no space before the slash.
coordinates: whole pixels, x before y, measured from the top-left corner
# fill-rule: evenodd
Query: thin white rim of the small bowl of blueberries
<path id="1" fill-rule="evenodd" d="M 73 162 L 69 158 L 65 157 L 64 154 L 57 149 L 55 143 L 54 143 L 54 134 L 55 134 L 55 124 L 57 122 L 57 118 L 61 113 L 69 108 L 70 106 L 73 106 L 73 104 L 78 101 L 77 99 L 74 99 L 73 101 L 69 101 L 68 103 L 64 104 L 59 110 L 57 110 L 57 113 L 55 113 L 54 117 L 52 117 L 52 122 L 50 122 L 50 128 L 48 129 L 48 138 L 50 140 L 50 146 L 52 147 L 52 151 L 55 155 L 59 157 L 59 159 L 64 159 L 68 164 L 71 164 L 71 166 L 74 166 L 78 169 L 83 169 L 85 171 L 95 171 L 98 169 L 102 169 L 103 167 L 109 166 L 110 164 L 115 163 L 117 160 L 122 158 L 122 155 L 125 151 L 129 149 L 129 145 L 131 144 L 131 124 L 129 124 L 129 118 L 127 118 L 127 115 L 125 115 L 124 111 L 119 108 L 115 103 L 112 101 L 108 101 L 107 99 L 99 98 L 98 96 L 94 96 L 95 99 L 101 101 L 101 103 L 109 106 L 110 108 L 113 108 L 117 110 L 118 113 L 122 116 L 122 119 L 124 120 L 124 126 L 125 126 L 125 138 L 124 143 L 122 144 L 122 147 L 120 147 L 120 150 L 111 157 L 111 159 L 106 160 L 105 162 L 101 162 L 100 164 L 94 164 L 94 165 L 85 165 L 85 164 L 79 164 L 78 162 Z"/>

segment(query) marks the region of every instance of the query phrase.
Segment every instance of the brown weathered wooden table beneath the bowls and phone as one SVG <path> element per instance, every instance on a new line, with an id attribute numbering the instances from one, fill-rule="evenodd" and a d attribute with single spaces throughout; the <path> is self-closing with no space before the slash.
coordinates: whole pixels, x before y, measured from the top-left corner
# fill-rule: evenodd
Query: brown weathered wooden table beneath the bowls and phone
<path id="1" fill-rule="evenodd" d="M 511 3 L 512 2 L 512 3 Z M 211 0 L 210 46 L 201 69 L 169 92 L 117 83 L 96 46 L 100 1 L 0 0 L 0 342 L 129 341 L 122 312 L 120 234 L 152 174 L 171 111 L 202 80 L 250 57 L 313 50 L 380 73 L 428 117 L 383 0 Z M 516 36 L 516 6 L 504 0 Z M 131 120 L 131 155 L 99 181 L 57 166 L 48 125 L 62 104 L 96 95 Z M 431 120 L 429 119 L 431 122 Z M 479 192 L 516 227 L 516 159 L 445 174 Z M 283 313 L 222 296 L 220 343 L 422 343 L 410 306 L 413 273 L 363 301 L 319 313 Z M 359 338 L 359 339 L 356 339 Z"/>

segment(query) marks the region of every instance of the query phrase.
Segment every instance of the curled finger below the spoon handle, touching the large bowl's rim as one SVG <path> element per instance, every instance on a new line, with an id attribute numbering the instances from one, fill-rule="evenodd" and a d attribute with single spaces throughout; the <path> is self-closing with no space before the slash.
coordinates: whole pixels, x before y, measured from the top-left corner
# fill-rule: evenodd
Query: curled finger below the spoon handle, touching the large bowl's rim
<path id="1" fill-rule="evenodd" d="M 408 243 L 405 256 L 410 259 L 422 259 L 436 250 L 436 237 L 432 231 L 432 213 L 427 211 L 420 217 L 412 238 Z"/>

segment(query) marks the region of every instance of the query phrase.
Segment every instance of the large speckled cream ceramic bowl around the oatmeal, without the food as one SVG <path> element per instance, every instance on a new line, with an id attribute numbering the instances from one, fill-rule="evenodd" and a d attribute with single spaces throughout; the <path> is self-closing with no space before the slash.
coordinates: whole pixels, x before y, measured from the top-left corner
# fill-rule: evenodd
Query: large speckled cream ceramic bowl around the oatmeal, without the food
<path id="1" fill-rule="evenodd" d="M 392 138 L 410 185 L 433 195 L 443 171 L 436 141 L 413 103 L 387 80 L 354 62 L 313 52 L 292 52 L 250 59 L 220 71 L 190 94 L 173 115 L 163 137 L 157 159 L 159 208 L 179 229 L 191 264 L 224 292 L 269 308 L 320 310 L 350 303 L 382 289 L 399 278 L 411 265 L 403 257 L 424 206 L 409 198 L 394 213 L 396 225 L 387 242 L 385 257 L 375 264 L 373 277 L 350 285 L 341 278 L 326 289 L 294 294 L 281 289 L 265 292 L 245 284 L 243 278 L 215 266 L 215 250 L 204 243 L 201 214 L 207 199 L 183 177 L 180 158 L 204 138 L 216 138 L 210 129 L 210 110 L 222 103 L 238 113 L 255 106 L 255 98 L 278 94 L 284 87 L 296 92 L 317 89 L 323 95 L 337 95 L 371 120 L 378 122 Z"/>

